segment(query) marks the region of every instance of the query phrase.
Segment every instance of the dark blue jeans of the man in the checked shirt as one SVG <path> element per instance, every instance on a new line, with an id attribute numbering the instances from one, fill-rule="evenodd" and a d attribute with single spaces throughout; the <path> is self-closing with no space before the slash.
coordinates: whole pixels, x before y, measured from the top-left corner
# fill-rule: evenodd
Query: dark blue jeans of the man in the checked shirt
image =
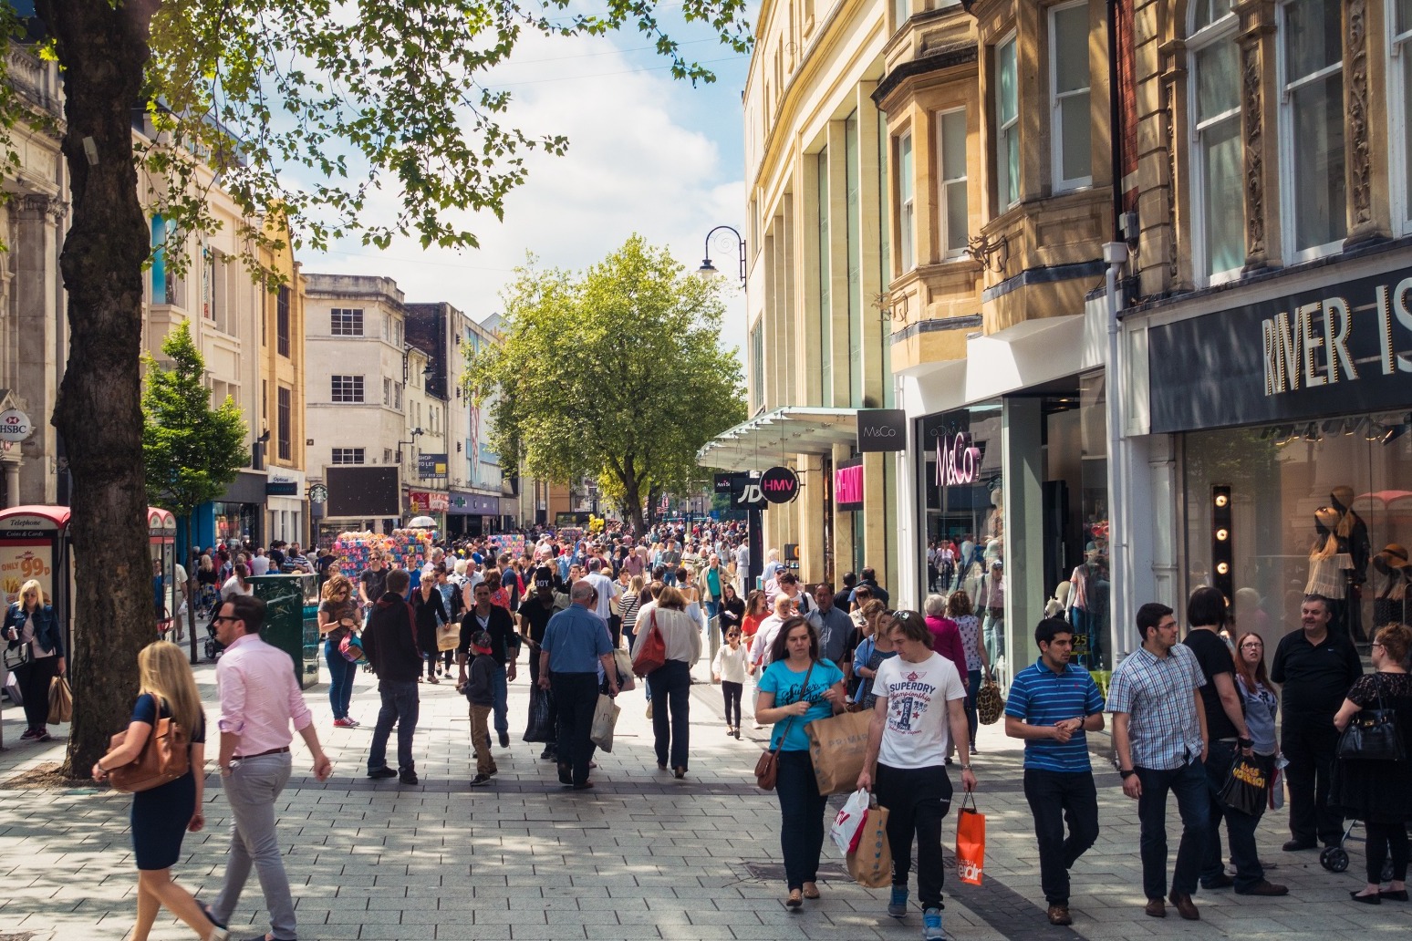
<path id="1" fill-rule="evenodd" d="M 1166 894 L 1166 793 L 1172 791 L 1182 815 L 1182 842 L 1172 870 L 1172 893 L 1189 896 L 1196 892 L 1196 878 L 1206 851 L 1210 813 L 1206 770 L 1196 758 L 1171 770 L 1141 766 L 1134 766 L 1134 770 L 1142 783 L 1142 796 L 1138 799 L 1142 890 L 1148 899 L 1162 899 Z"/>

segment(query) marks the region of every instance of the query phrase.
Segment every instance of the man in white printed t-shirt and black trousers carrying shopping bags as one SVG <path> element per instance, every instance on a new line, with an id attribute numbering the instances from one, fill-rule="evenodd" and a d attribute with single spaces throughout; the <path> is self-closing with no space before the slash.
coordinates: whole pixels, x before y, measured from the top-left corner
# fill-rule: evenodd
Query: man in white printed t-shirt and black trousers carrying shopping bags
<path id="1" fill-rule="evenodd" d="M 873 790 L 888 808 L 887 838 L 892 849 L 892 897 L 887 911 L 907 917 L 907 878 L 916 839 L 916 894 L 922 903 L 922 937 L 940 941 L 942 821 L 952 804 L 946 752 L 952 742 L 962 763 L 962 787 L 976 790 L 971 773 L 966 688 L 956 666 L 932 652 L 932 629 L 918 611 L 892 615 L 897 656 L 884 660 L 873 679 L 877 705 L 868 725 L 868 752 L 858 787 Z"/>

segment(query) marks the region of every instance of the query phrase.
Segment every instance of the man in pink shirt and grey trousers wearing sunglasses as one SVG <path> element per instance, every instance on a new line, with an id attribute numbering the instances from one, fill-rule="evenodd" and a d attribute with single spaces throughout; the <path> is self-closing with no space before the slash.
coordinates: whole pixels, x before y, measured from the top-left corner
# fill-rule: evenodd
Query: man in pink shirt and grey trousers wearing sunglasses
<path id="1" fill-rule="evenodd" d="M 267 941 L 295 941 L 294 899 L 274 828 L 274 804 L 289 782 L 291 722 L 313 755 L 313 776 L 328 780 L 333 765 L 319 748 L 289 655 L 260 639 L 264 615 L 264 601 L 236 595 L 215 619 L 216 639 L 226 645 L 216 683 L 220 786 L 230 801 L 232 827 L 226 882 L 206 914 L 217 925 L 230 923 L 253 862 L 270 911 Z"/>

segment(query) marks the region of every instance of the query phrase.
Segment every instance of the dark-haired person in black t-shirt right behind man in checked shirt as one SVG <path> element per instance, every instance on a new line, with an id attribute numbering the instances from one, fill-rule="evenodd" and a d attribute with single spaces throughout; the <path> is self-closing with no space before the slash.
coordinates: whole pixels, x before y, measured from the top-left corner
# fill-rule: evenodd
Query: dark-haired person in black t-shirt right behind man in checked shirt
<path id="1" fill-rule="evenodd" d="M 1206 786 L 1210 796 L 1210 813 L 1206 825 L 1206 852 L 1202 856 L 1202 887 L 1227 889 L 1236 886 L 1241 896 L 1282 896 L 1289 892 L 1265 879 L 1255 852 L 1255 827 L 1260 814 L 1243 814 L 1221 801 L 1221 789 L 1231 773 L 1237 756 L 1254 760 L 1265 772 L 1267 780 L 1274 770 L 1274 756 L 1255 755 L 1254 742 L 1245 727 L 1245 701 L 1236 688 L 1236 657 L 1226 641 L 1216 632 L 1226 624 L 1226 595 L 1219 588 L 1203 587 L 1192 593 L 1186 604 L 1187 635 L 1183 643 L 1190 648 L 1202 667 L 1206 684 L 1197 693 L 1206 711 L 1206 734 L 1210 746 L 1206 753 Z M 1236 863 L 1236 878 L 1226 875 L 1226 858 L 1221 854 L 1221 818 L 1230 834 L 1231 862 Z"/>

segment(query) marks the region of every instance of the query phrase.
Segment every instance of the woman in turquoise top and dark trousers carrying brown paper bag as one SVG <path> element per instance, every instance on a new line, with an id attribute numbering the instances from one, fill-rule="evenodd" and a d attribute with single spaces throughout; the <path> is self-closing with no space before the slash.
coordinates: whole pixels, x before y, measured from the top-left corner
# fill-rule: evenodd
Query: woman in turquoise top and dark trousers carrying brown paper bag
<path id="1" fill-rule="evenodd" d="M 803 899 L 819 897 L 815 883 L 827 806 L 813 777 L 803 727 L 843 711 L 843 670 L 819 659 L 819 635 L 812 624 L 799 617 L 788 618 L 770 648 L 770 666 L 757 690 L 755 721 L 774 724 L 770 748 L 779 749 L 775 793 L 784 817 L 779 849 L 789 886 L 785 907 L 798 911 Z"/>

